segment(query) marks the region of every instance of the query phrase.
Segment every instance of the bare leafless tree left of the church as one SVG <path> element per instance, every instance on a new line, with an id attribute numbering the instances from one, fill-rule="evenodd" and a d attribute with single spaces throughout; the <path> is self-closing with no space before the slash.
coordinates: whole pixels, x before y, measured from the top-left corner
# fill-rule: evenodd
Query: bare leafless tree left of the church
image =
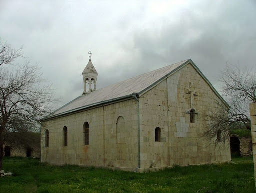
<path id="1" fill-rule="evenodd" d="M 29 62 L 13 64 L 22 57 L 21 49 L 0 42 L 0 169 L 8 133 L 38 128 L 38 120 L 51 111 L 54 101 L 53 92 L 37 66 Z"/>

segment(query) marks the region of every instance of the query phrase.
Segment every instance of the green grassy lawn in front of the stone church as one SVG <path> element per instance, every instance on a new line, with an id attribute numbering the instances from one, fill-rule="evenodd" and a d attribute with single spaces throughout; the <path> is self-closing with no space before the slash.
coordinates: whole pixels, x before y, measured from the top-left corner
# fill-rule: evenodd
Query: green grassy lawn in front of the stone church
<path id="1" fill-rule="evenodd" d="M 255 192 L 253 159 L 175 166 L 151 173 L 73 165 L 51 166 L 32 158 L 5 158 L 0 192 Z"/>

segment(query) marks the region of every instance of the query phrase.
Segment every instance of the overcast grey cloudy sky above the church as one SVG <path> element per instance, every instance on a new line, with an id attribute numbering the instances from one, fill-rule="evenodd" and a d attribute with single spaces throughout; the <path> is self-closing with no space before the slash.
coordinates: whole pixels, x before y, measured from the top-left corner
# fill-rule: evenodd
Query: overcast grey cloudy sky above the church
<path id="1" fill-rule="evenodd" d="M 226 63 L 256 66 L 255 19 L 255 0 L 0 0 L 1 40 L 61 104 L 82 94 L 88 51 L 97 89 L 190 58 L 219 90 Z"/>

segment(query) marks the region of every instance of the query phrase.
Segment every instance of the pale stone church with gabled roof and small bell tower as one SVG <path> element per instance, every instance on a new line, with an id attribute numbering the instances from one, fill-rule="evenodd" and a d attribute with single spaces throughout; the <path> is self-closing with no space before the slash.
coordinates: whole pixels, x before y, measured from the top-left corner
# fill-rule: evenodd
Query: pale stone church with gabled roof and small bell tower
<path id="1" fill-rule="evenodd" d="M 230 161 L 221 133 L 203 138 L 206 112 L 226 102 L 191 59 L 96 89 L 91 57 L 84 89 L 41 120 L 41 162 L 149 171 Z"/>

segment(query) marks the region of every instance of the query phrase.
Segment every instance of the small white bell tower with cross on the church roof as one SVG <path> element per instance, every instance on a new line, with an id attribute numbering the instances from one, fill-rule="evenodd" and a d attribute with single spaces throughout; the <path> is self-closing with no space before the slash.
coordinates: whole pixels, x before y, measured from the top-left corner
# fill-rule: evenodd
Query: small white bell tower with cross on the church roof
<path id="1" fill-rule="evenodd" d="M 83 95 L 96 90 L 98 72 L 91 62 L 92 53 L 89 52 L 89 62 L 82 72 L 83 76 Z"/>

